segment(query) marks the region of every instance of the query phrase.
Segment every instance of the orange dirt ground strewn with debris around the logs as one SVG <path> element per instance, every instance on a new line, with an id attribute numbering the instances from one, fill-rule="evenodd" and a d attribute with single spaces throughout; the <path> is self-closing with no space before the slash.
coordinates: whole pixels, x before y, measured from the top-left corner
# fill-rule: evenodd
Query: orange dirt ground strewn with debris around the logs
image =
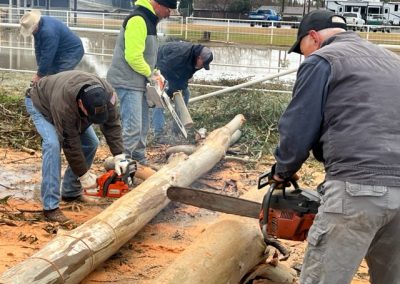
<path id="1" fill-rule="evenodd" d="M 162 166 L 165 147 L 150 147 L 149 160 Z M 97 153 L 93 171 L 104 172 L 102 161 L 109 155 L 106 147 Z M 63 163 L 65 165 L 65 161 Z M 239 162 L 221 161 L 212 172 L 194 186 L 222 189 L 226 182 L 236 184 L 243 194 L 256 185 L 257 176 L 270 165 L 254 167 Z M 30 155 L 11 149 L 0 149 L 0 273 L 28 258 L 62 232 L 58 224 L 46 222 L 38 201 L 41 154 Z M 301 184 L 315 187 L 323 174 L 312 167 L 302 169 Z M 8 187 L 8 189 L 7 189 Z M 235 194 L 232 187 L 228 192 Z M 133 189 L 134 190 L 134 189 Z M 7 196 L 12 195 L 8 200 Z M 101 206 L 61 204 L 65 214 L 82 224 L 110 204 Z M 171 202 L 114 256 L 100 265 L 82 283 L 154 283 L 154 279 L 209 226 L 219 213 Z M 285 241 L 292 251 L 287 264 L 300 267 L 305 243 Z M 352 283 L 368 283 L 368 268 L 363 262 Z M 257 282 L 262 283 L 262 282 Z"/>

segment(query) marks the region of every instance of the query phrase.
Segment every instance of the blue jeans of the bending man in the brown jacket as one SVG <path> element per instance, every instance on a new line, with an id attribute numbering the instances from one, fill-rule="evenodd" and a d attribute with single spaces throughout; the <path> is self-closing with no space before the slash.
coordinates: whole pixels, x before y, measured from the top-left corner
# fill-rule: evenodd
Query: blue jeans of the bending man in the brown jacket
<path id="1" fill-rule="evenodd" d="M 36 130 L 42 137 L 42 184 L 41 197 L 44 210 L 56 209 L 60 203 L 61 183 L 61 145 L 53 124 L 33 106 L 30 98 L 25 98 L 26 110 L 30 114 Z M 82 151 L 88 167 L 92 165 L 99 140 L 92 127 L 80 135 Z M 78 177 L 68 166 L 63 180 L 62 196 L 77 197 L 81 195 L 81 184 Z"/>

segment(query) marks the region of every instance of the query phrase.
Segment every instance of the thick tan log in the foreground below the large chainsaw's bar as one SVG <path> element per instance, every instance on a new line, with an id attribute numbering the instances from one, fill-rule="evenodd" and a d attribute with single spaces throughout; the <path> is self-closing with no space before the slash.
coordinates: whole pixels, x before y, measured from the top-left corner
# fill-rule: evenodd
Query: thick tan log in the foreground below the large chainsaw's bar
<path id="1" fill-rule="evenodd" d="M 253 190 L 245 198 L 260 201 L 264 193 Z M 154 282 L 240 283 L 261 276 L 276 283 L 294 283 L 293 269 L 282 264 L 259 265 L 268 257 L 265 249 L 258 220 L 223 214 Z"/>

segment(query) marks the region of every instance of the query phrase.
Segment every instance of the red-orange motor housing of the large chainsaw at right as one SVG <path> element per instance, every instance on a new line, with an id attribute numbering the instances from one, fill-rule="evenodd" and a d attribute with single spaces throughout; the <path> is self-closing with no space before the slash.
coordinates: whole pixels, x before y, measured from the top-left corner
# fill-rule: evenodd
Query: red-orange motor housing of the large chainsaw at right
<path id="1" fill-rule="evenodd" d="M 260 212 L 260 220 L 263 211 Z M 314 221 L 315 214 L 299 214 L 293 210 L 269 209 L 267 233 L 279 239 L 304 241 Z"/>

